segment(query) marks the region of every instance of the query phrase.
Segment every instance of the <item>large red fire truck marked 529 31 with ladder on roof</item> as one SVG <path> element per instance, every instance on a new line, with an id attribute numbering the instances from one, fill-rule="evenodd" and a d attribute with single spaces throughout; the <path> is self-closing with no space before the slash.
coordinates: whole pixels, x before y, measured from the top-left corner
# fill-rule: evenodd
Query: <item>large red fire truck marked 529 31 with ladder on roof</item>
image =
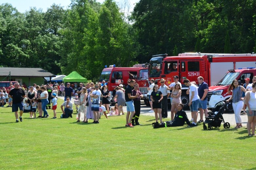
<path id="1" fill-rule="evenodd" d="M 166 85 L 173 82 L 173 76 L 179 76 L 182 83 L 182 103 L 187 106 L 189 96 L 188 87 L 183 84 L 184 79 L 197 82 L 198 76 L 203 76 L 209 85 L 217 84 L 227 70 L 240 67 L 255 66 L 254 54 L 211 54 L 211 53 L 182 53 L 179 56 L 167 57 L 167 54 L 152 56 L 148 66 L 148 79 L 155 79 L 159 84 L 161 78 L 166 79 Z M 168 99 L 168 103 L 170 99 Z"/>

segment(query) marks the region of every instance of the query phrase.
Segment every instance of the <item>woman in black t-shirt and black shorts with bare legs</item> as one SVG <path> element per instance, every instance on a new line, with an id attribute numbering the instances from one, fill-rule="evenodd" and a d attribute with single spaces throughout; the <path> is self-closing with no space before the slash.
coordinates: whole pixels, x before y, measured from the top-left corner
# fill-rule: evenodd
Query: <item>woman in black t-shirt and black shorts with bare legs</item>
<path id="1" fill-rule="evenodd" d="M 158 121 L 158 115 L 159 115 L 159 119 L 160 122 L 162 123 L 162 100 L 163 100 L 163 94 L 160 90 L 158 90 L 158 85 L 155 84 L 153 87 L 153 92 L 151 92 L 150 97 L 151 97 L 151 101 L 152 101 L 152 108 L 155 112 L 155 119 L 156 122 Z M 157 115 L 158 114 L 158 115 Z"/>

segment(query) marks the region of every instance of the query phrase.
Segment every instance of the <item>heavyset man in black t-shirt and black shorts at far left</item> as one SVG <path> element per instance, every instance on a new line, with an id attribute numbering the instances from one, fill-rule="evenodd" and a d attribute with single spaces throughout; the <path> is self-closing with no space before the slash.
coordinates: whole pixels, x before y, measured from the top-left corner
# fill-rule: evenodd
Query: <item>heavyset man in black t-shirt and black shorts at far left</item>
<path id="1" fill-rule="evenodd" d="M 26 97 L 25 91 L 20 88 L 19 83 L 14 84 L 14 89 L 12 89 L 9 93 L 9 97 L 12 98 L 12 112 L 15 113 L 16 123 L 18 120 L 18 110 L 20 109 L 20 121 L 22 122 L 22 114 L 23 114 L 23 98 Z"/>

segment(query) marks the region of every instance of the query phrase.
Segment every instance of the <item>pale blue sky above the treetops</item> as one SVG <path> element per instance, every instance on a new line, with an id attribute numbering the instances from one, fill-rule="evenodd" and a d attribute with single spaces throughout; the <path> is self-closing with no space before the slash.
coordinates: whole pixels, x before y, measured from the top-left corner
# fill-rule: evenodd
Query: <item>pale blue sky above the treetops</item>
<path id="1" fill-rule="evenodd" d="M 100 3 L 103 3 L 104 0 L 97 0 Z M 122 2 L 122 0 L 116 0 L 117 2 Z M 134 3 L 138 2 L 139 0 L 129 0 L 131 3 L 131 8 L 133 9 Z M 28 11 L 30 7 L 36 7 L 37 9 L 42 8 L 43 11 L 47 11 L 47 8 L 49 8 L 53 3 L 60 4 L 61 6 L 64 6 L 66 9 L 69 4 L 71 3 L 71 0 L 0 0 L 0 4 L 3 3 L 10 3 L 13 7 L 16 7 L 19 12 L 25 12 Z"/>

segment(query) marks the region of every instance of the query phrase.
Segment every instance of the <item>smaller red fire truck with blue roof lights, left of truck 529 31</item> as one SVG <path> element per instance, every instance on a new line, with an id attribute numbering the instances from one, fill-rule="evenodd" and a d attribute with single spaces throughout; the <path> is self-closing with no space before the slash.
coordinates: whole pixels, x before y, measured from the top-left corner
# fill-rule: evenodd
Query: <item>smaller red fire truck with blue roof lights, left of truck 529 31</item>
<path id="1" fill-rule="evenodd" d="M 114 89 L 121 84 L 121 80 L 123 80 L 124 85 L 127 86 L 128 79 L 135 79 L 140 87 L 145 86 L 147 90 L 148 68 L 145 64 L 136 64 L 133 67 L 115 67 L 114 64 L 110 65 L 109 68 L 105 66 L 100 76 L 100 82 L 105 80 L 108 83 L 108 90 L 111 96 L 115 94 Z M 142 93 L 144 92 L 142 91 Z"/>

